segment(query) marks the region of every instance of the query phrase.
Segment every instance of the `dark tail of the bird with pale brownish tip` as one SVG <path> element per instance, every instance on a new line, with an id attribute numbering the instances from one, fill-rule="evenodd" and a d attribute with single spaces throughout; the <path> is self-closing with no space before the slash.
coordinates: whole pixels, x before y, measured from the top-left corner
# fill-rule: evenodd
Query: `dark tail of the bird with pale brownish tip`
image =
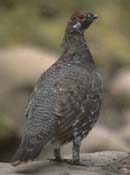
<path id="1" fill-rule="evenodd" d="M 43 142 L 38 141 L 35 137 L 25 137 L 13 157 L 11 164 L 17 166 L 23 162 L 34 160 L 40 154 L 43 145 Z"/>

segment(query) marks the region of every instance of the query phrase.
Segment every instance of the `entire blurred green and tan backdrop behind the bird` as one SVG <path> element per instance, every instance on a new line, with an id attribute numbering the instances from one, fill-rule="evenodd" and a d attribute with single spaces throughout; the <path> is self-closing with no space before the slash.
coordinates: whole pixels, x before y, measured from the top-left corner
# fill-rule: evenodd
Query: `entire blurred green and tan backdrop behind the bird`
<path id="1" fill-rule="evenodd" d="M 0 161 L 15 153 L 28 95 L 62 52 L 70 15 L 82 9 L 99 16 L 86 38 L 104 81 L 100 120 L 82 151 L 130 148 L 130 1 L 0 0 Z"/>

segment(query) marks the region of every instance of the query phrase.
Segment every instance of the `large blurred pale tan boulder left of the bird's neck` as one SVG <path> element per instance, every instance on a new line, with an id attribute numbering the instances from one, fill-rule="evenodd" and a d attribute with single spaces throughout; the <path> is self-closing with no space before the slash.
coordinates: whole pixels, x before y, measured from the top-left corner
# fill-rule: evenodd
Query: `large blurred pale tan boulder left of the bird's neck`
<path id="1" fill-rule="evenodd" d="M 35 47 L 0 49 L 0 80 L 4 90 L 22 84 L 35 83 L 57 56 Z M 0 90 L 1 92 L 1 90 Z"/>

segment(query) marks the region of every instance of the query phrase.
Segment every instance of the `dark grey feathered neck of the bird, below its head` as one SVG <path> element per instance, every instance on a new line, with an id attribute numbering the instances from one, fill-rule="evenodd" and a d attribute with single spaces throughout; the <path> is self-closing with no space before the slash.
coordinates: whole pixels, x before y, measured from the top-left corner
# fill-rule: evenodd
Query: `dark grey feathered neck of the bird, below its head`
<path id="1" fill-rule="evenodd" d="M 64 53 L 68 55 L 80 55 L 80 57 L 77 57 L 77 59 L 80 60 L 77 61 L 87 63 L 89 62 L 90 64 L 94 65 L 92 55 L 83 33 L 65 33 L 62 46 L 64 48 Z"/>

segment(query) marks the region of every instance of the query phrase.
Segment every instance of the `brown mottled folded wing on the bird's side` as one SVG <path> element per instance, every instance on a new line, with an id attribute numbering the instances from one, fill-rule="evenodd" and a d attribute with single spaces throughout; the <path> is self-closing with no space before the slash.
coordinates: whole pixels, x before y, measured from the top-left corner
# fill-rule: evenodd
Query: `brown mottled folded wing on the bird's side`
<path id="1" fill-rule="evenodd" d="M 73 73 L 64 76 L 56 82 L 57 102 L 55 115 L 58 118 L 56 136 L 59 139 L 68 137 L 72 132 L 72 125 L 78 115 L 82 113 L 82 104 L 87 103 L 91 89 L 90 76 Z"/>

